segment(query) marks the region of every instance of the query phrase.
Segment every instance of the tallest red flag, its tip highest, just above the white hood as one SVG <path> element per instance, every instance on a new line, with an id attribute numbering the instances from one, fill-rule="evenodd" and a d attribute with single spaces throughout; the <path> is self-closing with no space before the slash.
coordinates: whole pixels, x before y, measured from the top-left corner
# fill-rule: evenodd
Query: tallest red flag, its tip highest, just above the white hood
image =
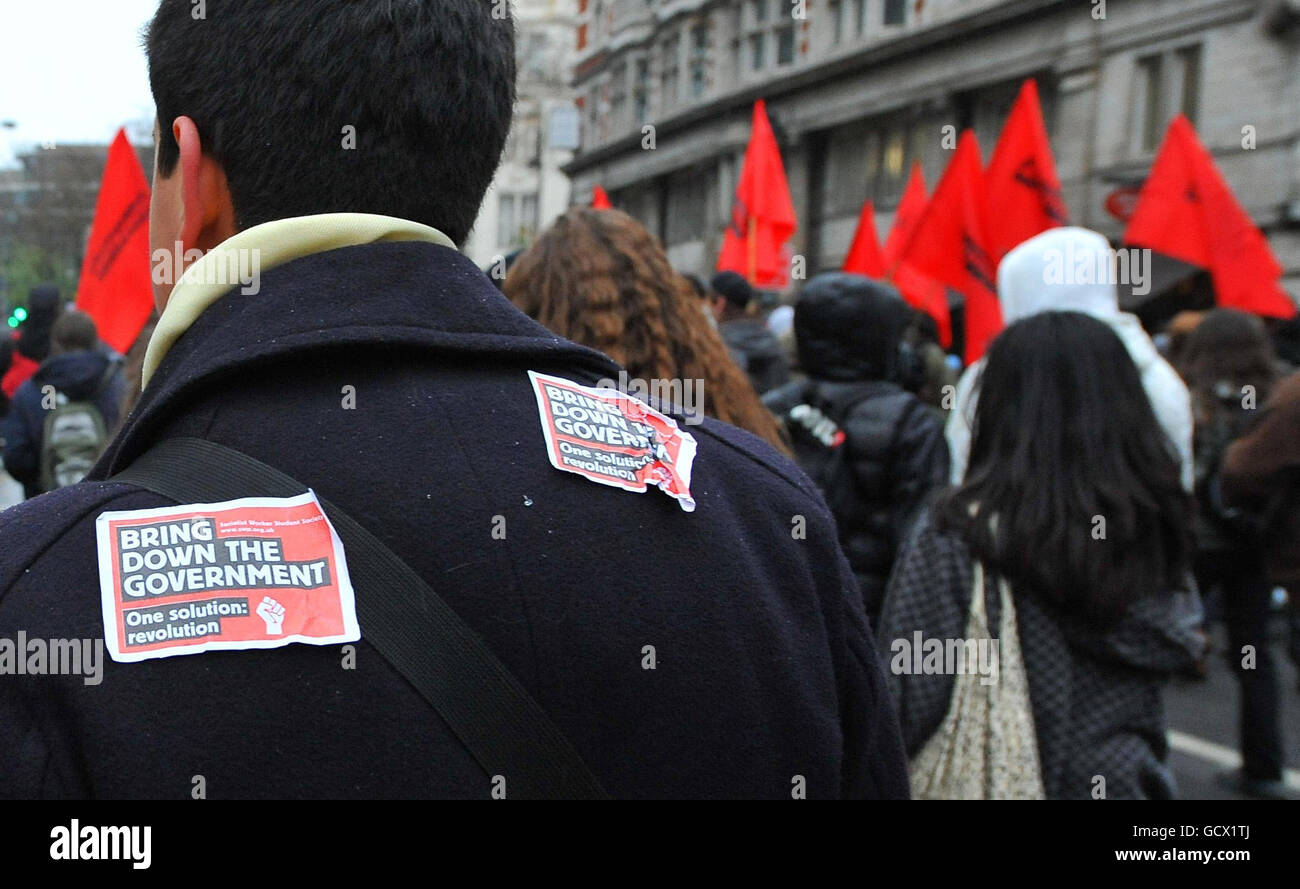
<path id="1" fill-rule="evenodd" d="M 1034 235 L 1070 221 L 1043 123 L 1039 84 L 1032 78 L 1011 105 L 984 181 L 988 247 L 996 261 Z"/>

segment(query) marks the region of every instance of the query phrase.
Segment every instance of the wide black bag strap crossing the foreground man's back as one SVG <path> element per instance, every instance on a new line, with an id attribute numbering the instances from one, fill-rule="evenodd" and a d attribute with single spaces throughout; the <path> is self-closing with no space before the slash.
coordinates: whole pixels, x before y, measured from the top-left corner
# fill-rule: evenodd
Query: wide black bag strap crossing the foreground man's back
<path id="1" fill-rule="evenodd" d="M 307 486 L 247 454 L 169 438 L 109 481 L 178 503 L 295 496 Z M 433 704 L 508 798 L 604 799 L 568 738 L 486 643 L 415 571 L 346 512 L 321 500 L 343 542 L 363 638 Z"/>

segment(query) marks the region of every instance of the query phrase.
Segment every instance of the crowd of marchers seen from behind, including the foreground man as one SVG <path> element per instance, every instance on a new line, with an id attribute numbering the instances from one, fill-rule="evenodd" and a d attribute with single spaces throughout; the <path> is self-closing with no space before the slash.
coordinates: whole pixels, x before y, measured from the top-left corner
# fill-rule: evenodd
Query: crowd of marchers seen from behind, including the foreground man
<path id="1" fill-rule="evenodd" d="M 348 552 L 365 608 L 342 668 L 337 638 L 259 638 L 114 656 L 94 685 L 0 676 L 0 797 L 203 776 L 230 797 L 1169 798 L 1162 686 L 1204 672 L 1218 623 L 1226 780 L 1290 794 L 1270 633 L 1300 591 L 1300 374 L 1277 329 L 1219 308 L 1153 339 L 1114 282 L 1046 283 L 1049 256 L 1109 251 L 1078 227 L 1001 263 L 1006 326 L 965 370 L 888 281 L 703 281 L 618 209 L 569 209 L 494 279 L 455 246 L 510 130 L 512 31 L 442 6 L 160 4 L 151 244 L 198 272 L 263 250 L 260 290 L 155 277 L 156 333 L 125 359 L 30 294 L 0 343 L 27 496 L 0 512 L 0 638 L 121 630 L 98 520 L 270 496 L 250 463 L 370 533 Z M 364 123 L 361 151 L 322 120 Z M 699 381 L 707 419 L 599 387 L 620 378 Z M 562 420 L 588 441 L 552 447 Z M 240 473 L 173 454 L 148 476 L 173 439 Z M 430 615 L 481 642 L 474 667 L 394 650 Z"/>

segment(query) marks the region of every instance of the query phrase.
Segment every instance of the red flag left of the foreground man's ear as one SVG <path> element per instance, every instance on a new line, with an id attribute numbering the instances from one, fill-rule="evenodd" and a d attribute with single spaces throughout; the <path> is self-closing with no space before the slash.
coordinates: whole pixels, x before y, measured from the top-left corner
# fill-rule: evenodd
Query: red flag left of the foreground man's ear
<path id="1" fill-rule="evenodd" d="M 100 339 L 118 352 L 131 347 L 153 311 L 150 183 L 126 130 L 117 131 L 108 149 L 77 308 L 95 318 Z"/>

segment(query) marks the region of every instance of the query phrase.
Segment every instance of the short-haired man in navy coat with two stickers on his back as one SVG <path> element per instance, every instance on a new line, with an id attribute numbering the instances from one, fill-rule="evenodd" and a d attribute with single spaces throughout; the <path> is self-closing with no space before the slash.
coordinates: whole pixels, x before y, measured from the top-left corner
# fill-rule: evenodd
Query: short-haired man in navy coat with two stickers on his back
<path id="1" fill-rule="evenodd" d="M 462 638 L 481 637 L 608 794 L 906 795 L 880 660 L 809 481 L 753 435 L 686 428 L 595 387 L 619 368 L 530 321 L 456 252 L 510 126 L 504 8 L 212 0 L 195 19 L 187 0 L 162 0 L 147 39 L 151 239 L 202 257 L 174 285 L 155 269 L 144 391 L 90 481 L 0 513 L 0 637 L 103 636 L 113 655 L 100 685 L 0 676 L 0 795 L 182 797 L 199 775 L 209 797 L 536 786 L 529 769 L 554 762 L 541 747 L 528 768 L 494 773 L 482 737 L 462 730 L 467 708 L 480 727 L 510 725 L 507 708 L 436 710 L 430 685 L 465 677 L 430 680 L 393 656 L 438 603 L 384 602 L 410 580 L 376 582 L 361 568 L 374 548 L 347 543 L 359 538 L 337 509 L 432 587 L 468 625 Z M 230 269 L 257 274 L 233 282 Z M 294 599 L 230 587 L 217 595 L 234 616 L 202 628 L 224 650 L 173 636 L 162 606 L 188 587 L 169 585 L 231 584 L 243 568 L 185 568 L 192 547 L 168 541 L 205 525 L 148 524 L 183 513 L 177 500 L 209 503 L 142 486 L 140 467 L 177 439 L 242 451 L 332 504 L 347 564 L 326 563 L 339 569 L 326 586 L 351 608 L 352 569 L 359 632 L 280 638 L 299 620 Z M 135 482 L 118 478 L 129 467 Z M 202 459 L 172 469 L 230 476 Z M 265 495 L 231 498 L 250 494 Z M 112 556 L 146 546 L 162 548 L 131 550 L 130 565 Z M 129 587 L 122 576 L 147 559 L 182 567 Z M 259 599 L 256 616 L 238 611 Z M 152 628 L 127 633 L 122 602 Z M 400 608 L 421 617 L 370 620 Z"/>

